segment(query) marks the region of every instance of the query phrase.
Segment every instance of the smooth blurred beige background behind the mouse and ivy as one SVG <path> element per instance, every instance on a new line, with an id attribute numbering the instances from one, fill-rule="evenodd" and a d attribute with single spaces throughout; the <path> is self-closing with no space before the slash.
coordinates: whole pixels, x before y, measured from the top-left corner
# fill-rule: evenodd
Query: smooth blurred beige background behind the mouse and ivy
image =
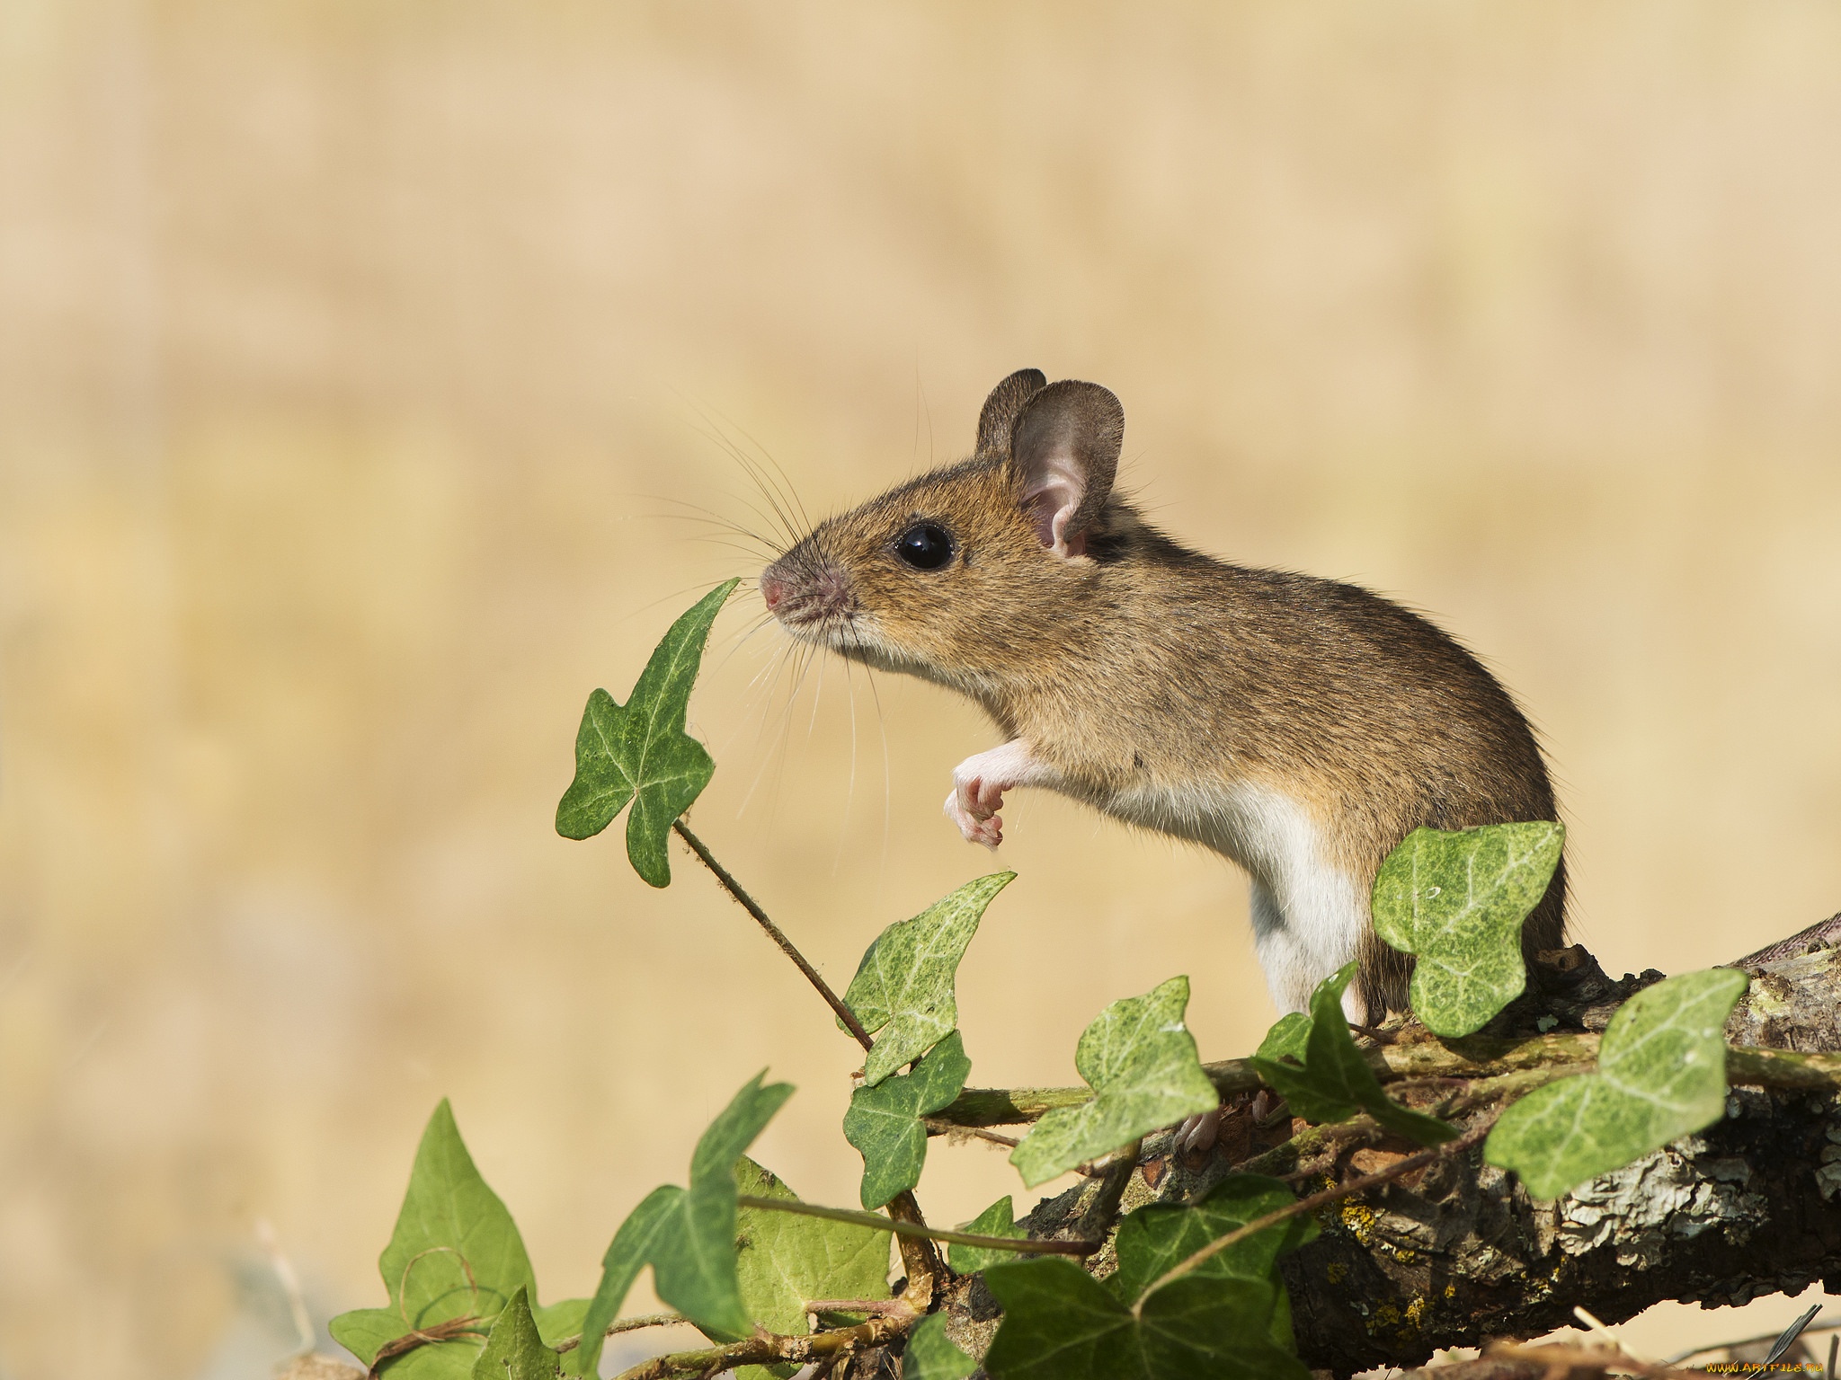
<path id="1" fill-rule="evenodd" d="M 315 1321 L 379 1303 L 444 1095 L 545 1301 L 762 1064 L 760 1157 L 854 1202 L 854 1047 L 689 857 L 552 810 L 587 692 L 758 570 L 685 521 L 755 524 L 731 447 L 825 512 L 1024 364 L 1121 396 L 1180 537 L 1486 655 L 1607 968 L 1834 913 L 1837 245 L 1824 0 L 7 0 L 0 1376 L 267 1374 L 260 1224 Z M 755 615 L 696 821 L 841 984 L 987 870 L 939 799 L 994 738 L 839 664 L 788 705 Z M 1241 878 L 1009 821 L 976 1082 L 1176 972 L 1252 1047 Z M 935 1148 L 920 1196 L 1011 1190 Z"/>

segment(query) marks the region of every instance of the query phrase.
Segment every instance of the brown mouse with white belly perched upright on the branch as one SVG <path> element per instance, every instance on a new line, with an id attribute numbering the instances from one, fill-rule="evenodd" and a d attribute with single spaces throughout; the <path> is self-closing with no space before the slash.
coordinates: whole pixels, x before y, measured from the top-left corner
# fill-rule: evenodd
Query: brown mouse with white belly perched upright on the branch
<path id="1" fill-rule="evenodd" d="M 1407 1010 L 1412 957 L 1373 931 L 1381 861 L 1416 828 L 1557 819 L 1510 692 L 1423 615 L 1368 589 L 1191 550 L 1117 486 L 1125 408 L 1101 385 L 1003 379 L 972 454 L 812 526 L 760 574 L 779 626 L 976 701 L 1002 743 L 952 773 L 946 817 L 998 848 L 1009 791 L 1059 791 L 1210 848 L 1252 885 L 1281 1012 L 1359 960 L 1353 1025 Z M 1523 949 L 1565 935 L 1565 857 Z"/>

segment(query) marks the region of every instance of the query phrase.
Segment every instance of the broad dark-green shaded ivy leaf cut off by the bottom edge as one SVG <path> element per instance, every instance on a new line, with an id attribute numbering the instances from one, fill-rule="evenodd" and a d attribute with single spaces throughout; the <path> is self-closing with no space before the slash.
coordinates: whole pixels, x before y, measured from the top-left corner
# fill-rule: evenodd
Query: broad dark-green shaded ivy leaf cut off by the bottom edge
<path id="1" fill-rule="evenodd" d="M 1195 1271 L 1143 1301 L 1138 1316 L 1062 1259 L 985 1270 L 1003 1323 L 985 1352 L 990 1380 L 1309 1380 L 1267 1341 L 1272 1286 Z"/>

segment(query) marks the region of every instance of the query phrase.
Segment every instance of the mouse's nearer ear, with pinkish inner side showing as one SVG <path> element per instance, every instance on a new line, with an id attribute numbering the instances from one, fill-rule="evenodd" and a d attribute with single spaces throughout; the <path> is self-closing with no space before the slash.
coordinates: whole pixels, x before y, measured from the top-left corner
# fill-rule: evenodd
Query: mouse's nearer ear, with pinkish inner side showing
<path id="1" fill-rule="evenodd" d="M 1057 556 L 1086 554 L 1086 528 L 1112 493 L 1123 443 L 1125 408 L 1097 383 L 1051 383 L 1016 414 L 1011 469 L 1024 512 Z"/>

